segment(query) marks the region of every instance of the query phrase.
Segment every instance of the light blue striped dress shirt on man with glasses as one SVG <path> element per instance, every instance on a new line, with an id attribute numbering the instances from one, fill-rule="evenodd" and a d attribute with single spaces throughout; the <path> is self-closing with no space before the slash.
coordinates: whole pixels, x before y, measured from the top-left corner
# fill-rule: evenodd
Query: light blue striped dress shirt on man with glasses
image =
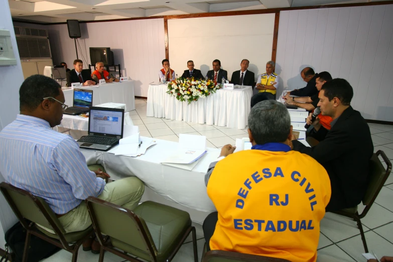
<path id="1" fill-rule="evenodd" d="M 97 197 L 105 186 L 87 168 L 75 140 L 23 114 L 0 132 L 0 173 L 13 186 L 45 199 L 56 214 Z"/>

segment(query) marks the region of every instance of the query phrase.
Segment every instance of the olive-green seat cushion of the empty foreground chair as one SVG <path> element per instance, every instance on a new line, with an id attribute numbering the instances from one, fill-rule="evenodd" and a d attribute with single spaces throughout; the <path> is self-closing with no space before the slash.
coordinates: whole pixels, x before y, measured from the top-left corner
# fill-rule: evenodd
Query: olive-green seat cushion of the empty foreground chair
<path id="1" fill-rule="evenodd" d="M 140 204 L 133 212 L 145 220 L 158 251 L 158 261 L 167 259 L 176 245 L 179 244 L 185 231 L 191 226 L 190 214 L 186 211 L 152 201 Z M 124 242 L 112 239 L 112 244 L 124 251 L 135 254 L 135 248 L 127 247 Z M 141 257 L 145 258 L 144 256 Z"/>

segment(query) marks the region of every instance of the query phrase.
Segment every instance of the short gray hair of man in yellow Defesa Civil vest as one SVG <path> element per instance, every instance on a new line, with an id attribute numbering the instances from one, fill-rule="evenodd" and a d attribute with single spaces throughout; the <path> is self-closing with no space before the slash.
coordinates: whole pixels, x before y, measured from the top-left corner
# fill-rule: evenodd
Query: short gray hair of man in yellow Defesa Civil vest
<path id="1" fill-rule="evenodd" d="M 248 128 L 257 145 L 283 143 L 291 130 L 291 118 L 284 104 L 265 100 L 252 107 L 248 115 Z"/>

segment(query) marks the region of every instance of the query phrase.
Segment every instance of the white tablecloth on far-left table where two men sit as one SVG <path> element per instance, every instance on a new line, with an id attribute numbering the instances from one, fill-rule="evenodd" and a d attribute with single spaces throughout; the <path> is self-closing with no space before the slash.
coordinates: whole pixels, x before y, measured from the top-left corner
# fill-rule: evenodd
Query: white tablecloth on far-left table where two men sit
<path id="1" fill-rule="evenodd" d="M 104 85 L 82 86 L 82 89 L 93 90 L 93 105 L 103 103 L 125 104 L 126 111 L 135 110 L 134 80 L 121 83 L 108 83 Z M 65 104 L 72 106 L 73 89 L 63 90 Z"/>

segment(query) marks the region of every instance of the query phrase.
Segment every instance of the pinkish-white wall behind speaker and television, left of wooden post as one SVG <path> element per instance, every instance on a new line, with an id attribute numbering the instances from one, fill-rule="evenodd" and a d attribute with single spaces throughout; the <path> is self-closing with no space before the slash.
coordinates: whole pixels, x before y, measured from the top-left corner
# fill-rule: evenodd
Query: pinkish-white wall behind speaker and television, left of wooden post
<path id="1" fill-rule="evenodd" d="M 48 30 L 54 64 L 66 62 L 73 69 L 76 59 L 74 40 L 68 36 L 67 25 L 41 26 L 15 23 L 15 26 Z M 158 80 L 158 71 L 165 59 L 164 19 L 146 19 L 80 24 L 78 57 L 90 64 L 89 47 L 110 47 L 122 76 L 135 80 L 135 95 L 148 96 L 149 83 Z M 86 64 L 84 62 L 84 64 Z"/>

